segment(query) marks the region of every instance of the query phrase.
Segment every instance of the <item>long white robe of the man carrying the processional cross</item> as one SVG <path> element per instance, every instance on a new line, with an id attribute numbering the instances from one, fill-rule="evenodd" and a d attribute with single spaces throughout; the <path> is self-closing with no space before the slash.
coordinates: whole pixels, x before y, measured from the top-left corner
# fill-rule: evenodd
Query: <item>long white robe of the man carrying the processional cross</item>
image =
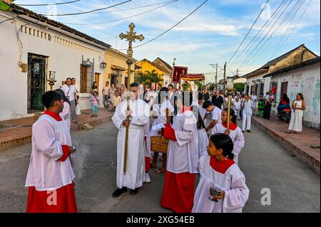
<path id="1" fill-rule="evenodd" d="M 145 177 L 144 157 L 144 125 L 149 120 L 149 105 L 143 100 L 130 100 L 132 110 L 131 125 L 128 132 L 128 156 L 126 173 L 123 172 L 125 157 L 126 127 L 123 120 L 126 120 L 127 100 L 121 102 L 111 118 L 113 124 L 118 128 L 117 137 L 117 186 L 121 189 L 126 186 L 128 189 L 136 189 L 143 185 Z"/>

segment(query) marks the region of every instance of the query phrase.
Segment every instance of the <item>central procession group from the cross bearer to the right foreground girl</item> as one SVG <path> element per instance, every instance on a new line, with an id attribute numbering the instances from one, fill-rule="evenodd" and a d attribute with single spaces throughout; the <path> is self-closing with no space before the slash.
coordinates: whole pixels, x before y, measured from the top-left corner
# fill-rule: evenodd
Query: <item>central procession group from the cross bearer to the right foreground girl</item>
<path id="1" fill-rule="evenodd" d="M 151 182 L 148 171 L 155 168 L 156 174 L 165 174 L 162 207 L 185 213 L 241 212 L 249 195 L 238 167 L 245 139 L 233 109 L 228 128 L 223 94 L 180 91 L 173 85 L 155 93 L 149 86 L 141 90 L 136 83 L 130 91 L 131 110 L 126 101 L 121 102 L 112 117 L 118 128 L 118 189 L 112 196 L 117 198 L 128 190 L 131 195 L 138 194 L 143 182 Z M 152 146 L 155 137 L 168 140 L 167 152 Z M 157 168 L 159 154 L 162 166 Z M 195 191 L 196 174 L 200 174 L 200 182 Z"/>

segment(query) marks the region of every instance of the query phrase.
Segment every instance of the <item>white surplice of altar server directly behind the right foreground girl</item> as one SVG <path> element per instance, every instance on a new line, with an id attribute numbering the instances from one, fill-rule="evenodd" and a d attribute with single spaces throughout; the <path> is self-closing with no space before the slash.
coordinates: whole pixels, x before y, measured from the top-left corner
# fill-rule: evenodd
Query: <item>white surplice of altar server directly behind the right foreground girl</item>
<path id="1" fill-rule="evenodd" d="M 212 130 L 212 134 L 216 133 L 224 133 L 227 130 L 226 127 L 222 125 L 222 123 L 216 124 Z M 230 130 L 229 134 L 230 138 L 233 141 L 233 154 L 234 154 L 234 162 L 238 164 L 238 155 L 240 151 L 243 149 L 245 145 L 245 139 L 242 130 L 240 127 L 236 127 L 236 130 Z"/>

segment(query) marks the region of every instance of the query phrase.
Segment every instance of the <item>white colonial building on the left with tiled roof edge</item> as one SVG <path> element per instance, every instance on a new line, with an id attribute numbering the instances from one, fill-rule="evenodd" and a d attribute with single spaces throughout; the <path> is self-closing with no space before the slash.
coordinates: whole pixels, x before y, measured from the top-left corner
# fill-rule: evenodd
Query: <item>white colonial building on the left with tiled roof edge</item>
<path id="1" fill-rule="evenodd" d="M 53 89 L 66 78 L 76 78 L 80 107 L 88 109 L 93 81 L 103 85 L 103 63 L 107 43 L 12 5 L 1 11 L 8 20 L 0 24 L 0 120 L 27 117 L 41 112 L 41 95 L 50 90 L 49 75 L 55 74 Z M 101 92 L 99 92 L 101 95 Z"/>

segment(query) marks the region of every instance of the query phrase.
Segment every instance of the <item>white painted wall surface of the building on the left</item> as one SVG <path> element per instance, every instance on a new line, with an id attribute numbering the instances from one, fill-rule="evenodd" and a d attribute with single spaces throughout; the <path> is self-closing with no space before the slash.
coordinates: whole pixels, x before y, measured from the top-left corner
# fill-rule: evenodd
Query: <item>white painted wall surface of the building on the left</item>
<path id="1" fill-rule="evenodd" d="M 0 12 L 2 16 L 9 16 L 4 12 Z M 12 17 L 12 16 L 11 16 Z M 2 18 L 2 17 L 1 17 Z M 19 41 L 16 36 L 16 31 L 21 25 L 26 24 L 26 21 L 18 19 L 16 28 L 14 23 L 6 21 L 0 25 L 0 120 L 16 119 L 26 117 L 27 115 L 27 76 L 28 73 L 21 73 L 18 66 L 19 62 Z M 51 29 L 31 24 L 29 28 L 35 28 L 37 31 L 51 35 L 51 41 L 37 36 L 29 35 L 29 33 L 19 33 L 19 38 L 22 43 L 21 62 L 28 63 L 28 53 L 34 53 L 41 56 L 48 56 L 47 76 L 49 70 L 56 71 L 56 84 L 54 89 L 61 86 L 61 80 L 67 77 L 74 77 L 80 85 L 80 65 L 82 56 L 84 59 L 95 60 L 95 73 L 101 73 L 100 87 L 103 85 L 103 69 L 100 68 L 99 56 L 103 57 L 103 48 L 98 48 L 83 41 L 78 41 L 76 38 L 65 36 Z M 66 46 L 55 42 L 55 37 L 63 38 L 67 41 L 86 46 L 99 53 L 89 53 L 88 51 L 78 50 L 71 46 Z M 79 37 L 80 38 L 80 37 Z M 47 85 L 47 89 L 50 87 Z M 101 97 L 101 88 L 99 88 Z M 90 94 L 81 94 L 81 109 L 90 108 L 88 102 Z"/>

